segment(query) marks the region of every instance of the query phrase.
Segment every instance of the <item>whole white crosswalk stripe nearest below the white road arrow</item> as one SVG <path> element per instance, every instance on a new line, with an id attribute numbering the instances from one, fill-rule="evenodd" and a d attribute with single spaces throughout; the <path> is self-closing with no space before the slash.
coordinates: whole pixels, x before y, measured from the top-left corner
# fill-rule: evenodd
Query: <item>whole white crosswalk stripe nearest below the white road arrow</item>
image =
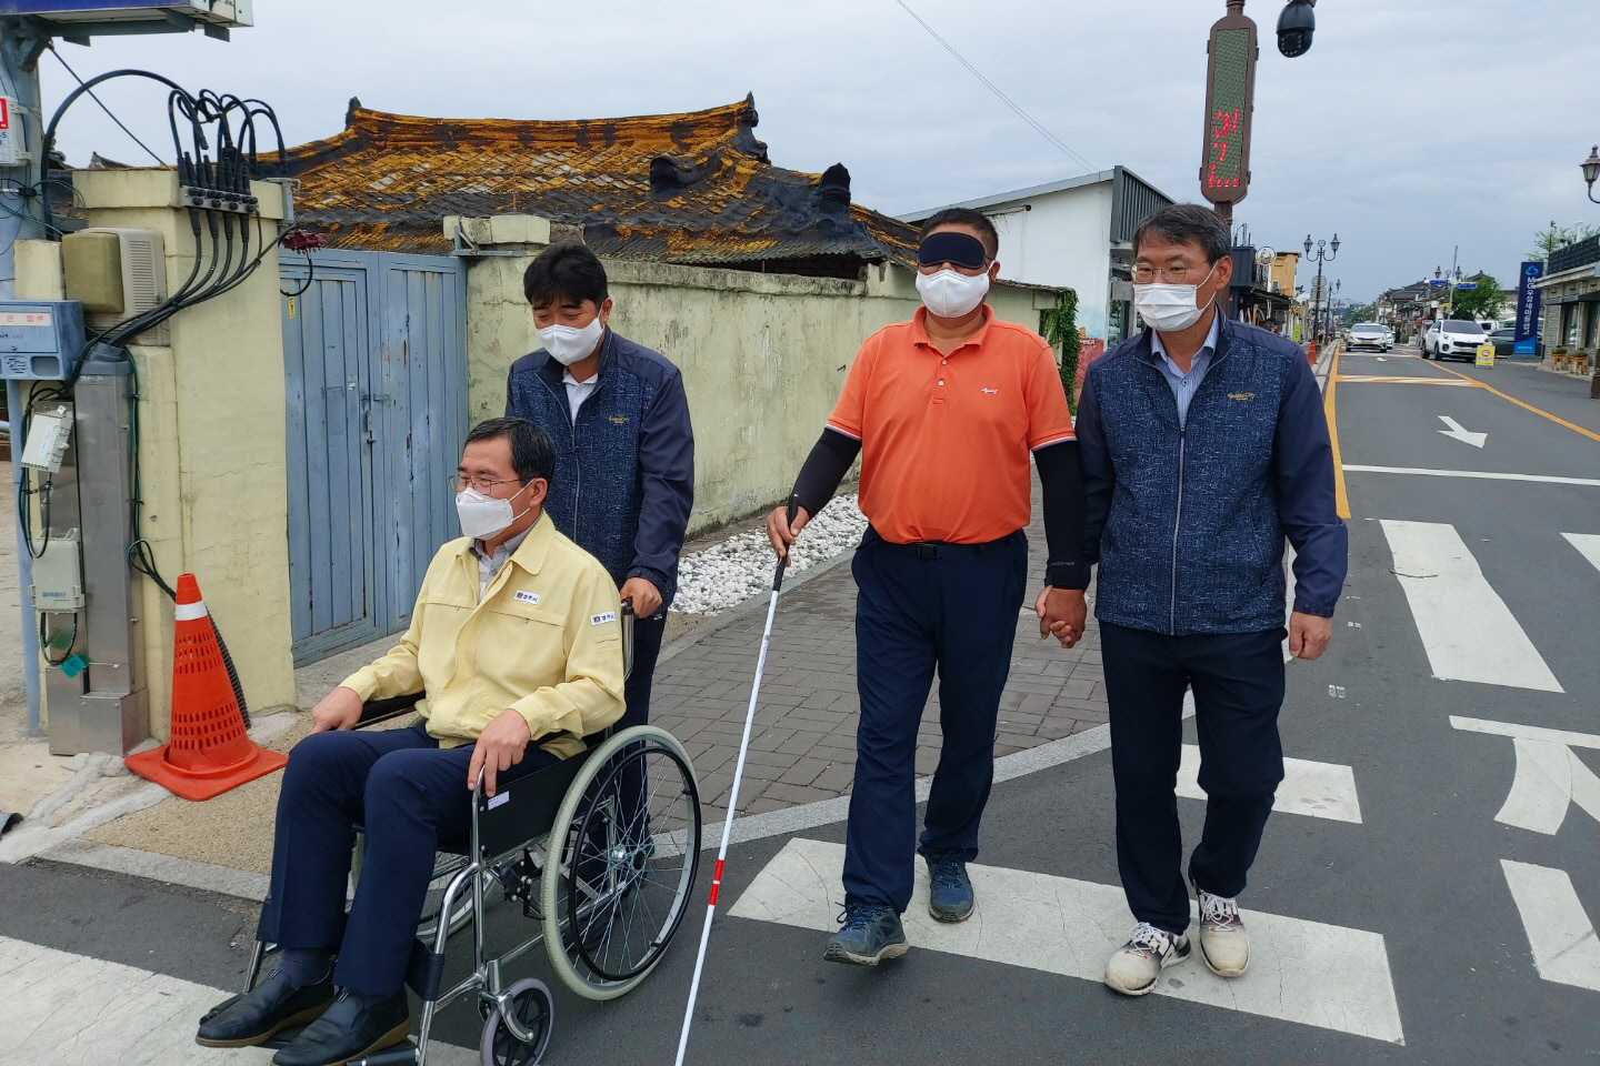
<path id="1" fill-rule="evenodd" d="M 1563 692 L 1454 526 L 1381 524 L 1435 678 Z"/>

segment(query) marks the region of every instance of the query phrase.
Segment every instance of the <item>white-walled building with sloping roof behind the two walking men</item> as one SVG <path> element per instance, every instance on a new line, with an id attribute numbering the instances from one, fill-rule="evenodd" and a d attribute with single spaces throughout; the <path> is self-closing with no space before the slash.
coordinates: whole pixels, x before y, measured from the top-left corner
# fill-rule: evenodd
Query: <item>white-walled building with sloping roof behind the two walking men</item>
<path id="1" fill-rule="evenodd" d="M 946 206 L 973 208 L 992 219 L 1000 232 L 1000 276 L 1074 289 L 1078 326 L 1112 345 L 1126 336 L 1130 321 L 1133 232 L 1147 214 L 1170 203 L 1173 198 L 1155 185 L 1117 166 Z M 920 224 L 942 209 L 899 217 Z"/>

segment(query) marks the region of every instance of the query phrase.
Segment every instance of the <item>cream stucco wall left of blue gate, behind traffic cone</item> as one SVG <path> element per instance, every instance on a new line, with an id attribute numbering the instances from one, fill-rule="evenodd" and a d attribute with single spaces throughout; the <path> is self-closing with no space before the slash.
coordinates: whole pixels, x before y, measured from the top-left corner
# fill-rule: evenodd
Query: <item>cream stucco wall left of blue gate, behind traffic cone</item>
<path id="1" fill-rule="evenodd" d="M 189 276 L 194 238 L 176 208 L 176 176 L 160 171 L 80 171 L 74 177 L 90 225 L 162 233 L 166 291 Z M 277 214 L 275 185 L 253 190 Z M 272 222 L 259 233 L 272 240 Z M 253 249 L 259 241 L 253 232 Z M 283 332 L 278 257 L 267 253 L 248 281 L 168 320 L 170 347 L 134 345 L 139 374 L 139 470 L 144 537 L 162 575 L 194 572 L 221 623 L 253 708 L 294 702 L 290 655 L 285 500 Z M 139 579 L 144 681 L 150 734 L 168 737 L 173 609 Z"/>

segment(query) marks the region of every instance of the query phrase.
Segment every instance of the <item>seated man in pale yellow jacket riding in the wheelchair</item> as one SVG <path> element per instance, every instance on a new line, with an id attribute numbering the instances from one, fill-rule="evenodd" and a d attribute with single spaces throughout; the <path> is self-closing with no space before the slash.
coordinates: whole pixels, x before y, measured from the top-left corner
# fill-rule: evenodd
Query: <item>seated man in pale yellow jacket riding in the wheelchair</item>
<path id="1" fill-rule="evenodd" d="M 618 590 L 542 515 L 555 465 L 533 422 L 472 428 L 453 481 L 462 537 L 434 556 L 400 644 L 312 708 L 283 772 L 262 932 L 277 972 L 202 1021 L 208 1047 L 306 1029 L 275 1066 L 325 1066 L 406 1039 L 406 959 L 440 847 L 494 794 L 622 716 Z M 355 730 L 362 703 L 426 692 L 408 729 Z M 355 826 L 366 831 L 349 914 Z M 309 1024 L 307 1024 L 309 1023 Z"/>

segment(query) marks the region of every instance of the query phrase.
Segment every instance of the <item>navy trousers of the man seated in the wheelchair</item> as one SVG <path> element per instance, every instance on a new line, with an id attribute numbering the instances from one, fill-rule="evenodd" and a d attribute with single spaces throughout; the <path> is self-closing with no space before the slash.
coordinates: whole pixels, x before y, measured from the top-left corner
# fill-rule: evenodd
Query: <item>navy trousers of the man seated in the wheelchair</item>
<path id="1" fill-rule="evenodd" d="M 496 788 L 555 761 L 530 745 Z M 333 980 L 341 988 L 363 996 L 400 991 L 435 852 L 469 844 L 470 762 L 472 745 L 440 748 L 422 722 L 312 734 L 294 745 L 278 796 L 261 935 L 283 948 L 338 953 Z M 357 825 L 366 826 L 366 857 L 346 917 Z"/>

